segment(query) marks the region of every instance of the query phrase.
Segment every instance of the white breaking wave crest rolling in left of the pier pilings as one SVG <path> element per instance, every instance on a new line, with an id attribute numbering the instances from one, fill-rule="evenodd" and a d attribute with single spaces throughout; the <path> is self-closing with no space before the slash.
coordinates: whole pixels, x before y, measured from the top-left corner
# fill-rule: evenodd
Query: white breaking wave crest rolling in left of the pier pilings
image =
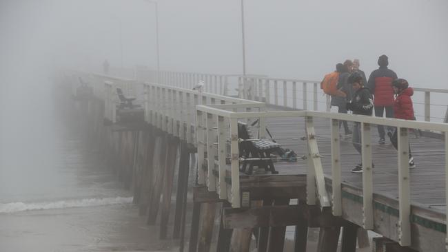
<path id="1" fill-rule="evenodd" d="M 0 213 L 15 213 L 19 211 L 64 209 L 70 207 L 95 207 L 108 204 L 128 204 L 132 197 L 88 198 L 82 200 L 61 200 L 55 202 L 10 202 L 0 204 Z"/>

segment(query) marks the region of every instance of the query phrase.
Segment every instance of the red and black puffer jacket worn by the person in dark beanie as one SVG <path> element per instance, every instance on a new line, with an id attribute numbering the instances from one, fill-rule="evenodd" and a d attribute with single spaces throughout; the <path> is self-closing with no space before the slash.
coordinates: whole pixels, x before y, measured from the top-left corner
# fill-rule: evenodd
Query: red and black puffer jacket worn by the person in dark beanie
<path id="1" fill-rule="evenodd" d="M 367 87 L 374 94 L 375 106 L 389 107 L 394 105 L 394 89 L 391 83 L 396 78 L 397 74 L 385 65 L 371 72 Z"/>

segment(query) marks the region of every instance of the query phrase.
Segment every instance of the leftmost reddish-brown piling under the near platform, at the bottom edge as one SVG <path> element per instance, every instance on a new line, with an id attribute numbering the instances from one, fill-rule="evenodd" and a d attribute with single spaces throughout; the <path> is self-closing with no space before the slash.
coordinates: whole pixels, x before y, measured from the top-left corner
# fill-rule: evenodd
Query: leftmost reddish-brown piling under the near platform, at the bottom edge
<path id="1" fill-rule="evenodd" d="M 210 244 L 212 243 L 212 234 L 214 226 L 214 216 L 216 212 L 216 203 L 202 204 L 202 221 L 201 229 L 199 231 L 198 252 L 210 251 Z"/>

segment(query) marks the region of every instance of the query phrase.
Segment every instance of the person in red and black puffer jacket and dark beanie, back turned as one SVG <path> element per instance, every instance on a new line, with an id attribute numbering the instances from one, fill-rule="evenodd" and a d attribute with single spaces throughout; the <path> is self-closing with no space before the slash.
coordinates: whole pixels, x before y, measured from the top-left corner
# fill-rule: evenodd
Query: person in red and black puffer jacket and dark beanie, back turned
<path id="1" fill-rule="evenodd" d="M 378 65 L 380 66 L 374 72 L 371 72 L 367 87 L 372 94 L 374 94 L 375 116 L 383 117 L 386 112 L 386 117 L 394 117 L 394 90 L 391 87 L 392 81 L 397 78 L 397 74 L 387 68 L 389 59 L 386 55 L 381 55 L 378 58 Z M 385 130 L 383 125 L 378 125 L 378 134 L 380 145 L 385 144 Z M 389 132 L 392 128 L 388 128 Z"/>

